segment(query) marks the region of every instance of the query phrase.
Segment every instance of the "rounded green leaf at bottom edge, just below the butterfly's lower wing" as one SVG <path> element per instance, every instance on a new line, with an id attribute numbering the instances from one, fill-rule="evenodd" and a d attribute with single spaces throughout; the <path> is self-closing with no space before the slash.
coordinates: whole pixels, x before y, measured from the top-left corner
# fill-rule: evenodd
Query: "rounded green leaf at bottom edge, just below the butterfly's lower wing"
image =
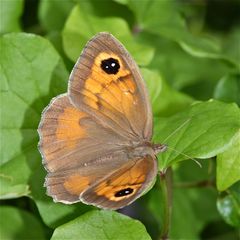
<path id="1" fill-rule="evenodd" d="M 144 225 L 114 211 L 90 211 L 58 227 L 56 239 L 151 239 Z"/>

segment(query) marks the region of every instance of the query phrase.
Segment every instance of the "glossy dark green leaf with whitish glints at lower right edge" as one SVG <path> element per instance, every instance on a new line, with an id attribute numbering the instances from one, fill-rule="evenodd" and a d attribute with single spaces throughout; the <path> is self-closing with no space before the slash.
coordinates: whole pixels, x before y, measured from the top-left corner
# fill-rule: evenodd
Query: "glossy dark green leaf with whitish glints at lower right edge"
<path id="1" fill-rule="evenodd" d="M 240 227 L 240 181 L 219 197 L 217 208 L 223 219 L 230 225 Z"/>

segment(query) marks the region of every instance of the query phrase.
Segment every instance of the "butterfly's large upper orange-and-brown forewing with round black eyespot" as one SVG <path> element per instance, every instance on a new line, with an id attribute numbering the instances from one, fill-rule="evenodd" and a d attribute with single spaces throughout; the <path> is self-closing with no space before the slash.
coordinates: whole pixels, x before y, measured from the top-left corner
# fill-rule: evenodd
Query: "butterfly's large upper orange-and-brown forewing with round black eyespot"
<path id="1" fill-rule="evenodd" d="M 150 140 L 152 112 L 138 66 L 111 34 L 90 40 L 69 83 L 73 104 L 132 141 Z"/>

